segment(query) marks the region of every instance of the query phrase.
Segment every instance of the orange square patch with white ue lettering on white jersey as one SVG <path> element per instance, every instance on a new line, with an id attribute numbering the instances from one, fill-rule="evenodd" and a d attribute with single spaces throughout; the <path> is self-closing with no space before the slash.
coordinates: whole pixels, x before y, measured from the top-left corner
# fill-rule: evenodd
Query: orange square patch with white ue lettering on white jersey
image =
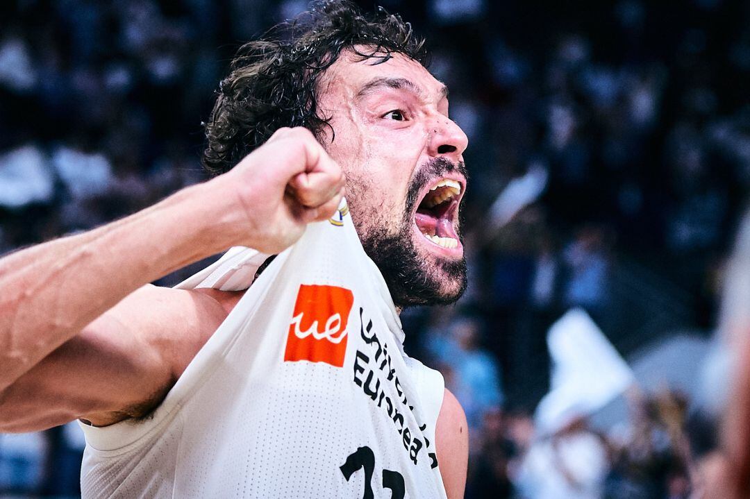
<path id="1" fill-rule="evenodd" d="M 309 360 L 343 367 L 347 354 L 347 322 L 353 303 L 354 296 L 349 289 L 300 285 L 284 360 Z"/>

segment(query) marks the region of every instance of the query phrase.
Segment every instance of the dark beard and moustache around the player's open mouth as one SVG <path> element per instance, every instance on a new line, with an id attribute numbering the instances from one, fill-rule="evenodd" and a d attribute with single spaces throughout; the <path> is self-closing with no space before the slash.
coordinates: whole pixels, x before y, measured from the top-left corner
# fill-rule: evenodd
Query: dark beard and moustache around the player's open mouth
<path id="1" fill-rule="evenodd" d="M 420 249 L 414 241 L 413 216 L 420 201 L 419 193 L 432 179 L 446 172 L 460 172 L 466 176 L 463 163 L 454 165 L 442 157 L 431 160 L 419 169 L 407 192 L 404 217 L 395 229 L 389 230 L 380 225 L 370 226 L 365 231 L 357 224 L 362 247 L 383 274 L 393 303 L 398 308 L 448 305 L 455 303 L 466 291 L 465 257 L 459 260 L 443 258 L 427 249 Z M 371 215 L 368 216 L 369 220 L 380 220 L 377 214 Z M 456 233 L 463 243 L 460 230 Z"/>

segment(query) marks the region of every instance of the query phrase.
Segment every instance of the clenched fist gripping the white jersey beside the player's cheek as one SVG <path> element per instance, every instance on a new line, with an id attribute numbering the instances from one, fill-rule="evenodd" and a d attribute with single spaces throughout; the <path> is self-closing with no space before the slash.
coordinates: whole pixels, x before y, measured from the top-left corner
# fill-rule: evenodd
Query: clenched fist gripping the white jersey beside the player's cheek
<path id="1" fill-rule="evenodd" d="M 235 196 L 236 240 L 266 253 L 294 244 L 308 223 L 335 214 L 344 172 L 306 128 L 281 128 L 237 166 L 209 184 Z M 231 217 L 234 220 L 234 217 Z"/>

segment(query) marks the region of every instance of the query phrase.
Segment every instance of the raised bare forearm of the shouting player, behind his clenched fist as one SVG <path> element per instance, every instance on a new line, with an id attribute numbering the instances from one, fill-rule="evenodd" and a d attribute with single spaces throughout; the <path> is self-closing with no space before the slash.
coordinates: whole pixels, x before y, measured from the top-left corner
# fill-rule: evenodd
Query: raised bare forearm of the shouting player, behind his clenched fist
<path id="1" fill-rule="evenodd" d="M 229 247 L 240 219 L 211 189 L 1 259 L 0 390 L 136 288 Z"/>

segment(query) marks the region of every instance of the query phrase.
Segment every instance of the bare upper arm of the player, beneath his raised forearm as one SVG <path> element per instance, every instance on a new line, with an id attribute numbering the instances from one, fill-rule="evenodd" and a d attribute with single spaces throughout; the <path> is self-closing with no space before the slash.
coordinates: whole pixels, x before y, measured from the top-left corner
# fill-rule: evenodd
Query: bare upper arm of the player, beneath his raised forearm
<path id="1" fill-rule="evenodd" d="M 222 316 L 205 294 L 140 288 L 0 393 L 0 432 L 144 415 Z"/>

